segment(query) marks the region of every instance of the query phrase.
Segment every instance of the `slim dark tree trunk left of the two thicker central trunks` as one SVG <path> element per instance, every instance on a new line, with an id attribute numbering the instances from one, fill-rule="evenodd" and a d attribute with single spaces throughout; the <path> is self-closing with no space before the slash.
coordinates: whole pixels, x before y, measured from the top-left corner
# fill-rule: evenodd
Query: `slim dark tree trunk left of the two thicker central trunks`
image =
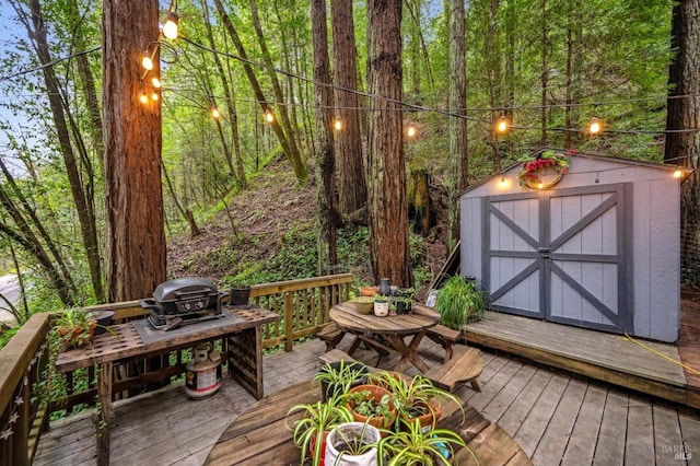
<path id="1" fill-rule="evenodd" d="M 314 54 L 314 101 L 316 104 L 316 229 L 318 275 L 327 275 L 338 263 L 336 222 L 336 164 L 332 151 L 332 93 L 328 63 L 326 0 L 311 2 Z"/>

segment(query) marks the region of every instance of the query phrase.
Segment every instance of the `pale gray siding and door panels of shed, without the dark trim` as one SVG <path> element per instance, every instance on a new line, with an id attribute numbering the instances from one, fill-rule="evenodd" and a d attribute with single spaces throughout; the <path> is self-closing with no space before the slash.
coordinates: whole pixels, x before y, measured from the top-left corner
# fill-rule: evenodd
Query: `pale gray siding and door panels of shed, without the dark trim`
<path id="1" fill-rule="evenodd" d="M 638 164 L 609 158 L 573 155 L 570 158 L 570 173 L 552 188 L 572 190 L 575 188 L 604 187 L 617 185 L 623 191 L 623 231 L 615 234 L 616 219 L 614 212 L 606 212 L 596 219 L 591 228 L 582 231 L 564 243 L 559 252 L 588 255 L 615 255 L 621 252 L 629 267 L 621 269 L 623 282 L 609 279 L 618 273 L 614 265 L 583 264 L 571 265 L 552 260 L 563 268 L 568 275 L 600 296 L 607 306 L 617 310 L 618 292 L 623 291 L 629 306 L 629 330 L 631 334 L 662 341 L 675 341 L 678 338 L 680 307 L 680 188 L 678 179 L 672 177 L 667 166 Z M 522 238 L 513 235 L 509 229 L 501 228 L 498 220 L 489 221 L 487 199 L 498 202 L 499 210 L 508 212 L 512 219 L 529 235 L 539 237 L 541 225 L 532 215 L 536 209 L 539 191 L 520 187 L 515 175 L 520 165 L 503 173 L 506 184 L 501 183 L 501 175 L 495 175 L 460 196 L 460 267 L 462 273 L 477 277 L 481 282 L 485 271 L 485 247 L 511 248 L 525 251 L 527 245 Z M 596 182 L 597 179 L 597 182 Z M 587 193 L 582 189 L 582 193 Z M 522 199 L 524 194 L 532 198 Z M 551 237 L 565 230 L 581 212 L 591 205 L 605 199 L 605 194 L 585 194 L 581 197 L 552 197 L 552 210 L 549 224 Z M 485 229 L 490 226 L 488 242 L 485 244 Z M 621 242 L 621 244 L 617 244 Z M 620 246 L 618 248 L 618 246 Z M 532 248 L 530 248 L 532 249 Z M 491 279 L 509 277 L 512 271 L 522 270 L 525 258 L 495 257 L 489 267 Z M 493 288 L 501 283 L 490 283 Z M 501 296 L 499 303 L 515 308 L 539 307 L 541 294 L 535 290 L 539 287 L 535 275 L 527 277 L 508 294 Z M 582 321 L 598 319 L 606 324 L 606 317 L 596 317 L 590 303 L 568 293 L 569 286 L 557 277 L 551 280 L 551 303 L 548 305 L 551 315 L 565 313 L 563 317 L 580 316 Z M 618 290 L 618 288 L 620 290 Z M 489 290 L 492 291 L 492 290 Z M 619 312 L 625 312 L 625 308 Z M 595 328 L 595 327 L 593 327 Z"/>

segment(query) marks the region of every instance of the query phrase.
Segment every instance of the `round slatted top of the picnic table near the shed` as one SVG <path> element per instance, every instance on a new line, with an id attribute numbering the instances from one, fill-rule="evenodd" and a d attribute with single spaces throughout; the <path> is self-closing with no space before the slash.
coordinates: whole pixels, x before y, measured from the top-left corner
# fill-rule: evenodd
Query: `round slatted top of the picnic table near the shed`
<path id="1" fill-rule="evenodd" d="M 365 336 L 378 334 L 411 335 L 432 327 L 440 321 L 440 314 L 431 307 L 413 303 L 411 314 L 387 315 L 360 314 L 352 301 L 332 306 L 328 313 L 330 319 L 341 328 Z"/>

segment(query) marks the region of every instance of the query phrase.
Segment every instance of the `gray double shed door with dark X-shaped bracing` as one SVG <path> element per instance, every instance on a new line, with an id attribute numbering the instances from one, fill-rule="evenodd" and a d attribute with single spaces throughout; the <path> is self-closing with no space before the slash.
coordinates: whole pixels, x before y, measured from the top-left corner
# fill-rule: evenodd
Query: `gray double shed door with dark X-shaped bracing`
<path id="1" fill-rule="evenodd" d="M 492 196 L 483 212 L 482 281 L 491 308 L 608 331 L 632 328 L 625 185 Z"/>

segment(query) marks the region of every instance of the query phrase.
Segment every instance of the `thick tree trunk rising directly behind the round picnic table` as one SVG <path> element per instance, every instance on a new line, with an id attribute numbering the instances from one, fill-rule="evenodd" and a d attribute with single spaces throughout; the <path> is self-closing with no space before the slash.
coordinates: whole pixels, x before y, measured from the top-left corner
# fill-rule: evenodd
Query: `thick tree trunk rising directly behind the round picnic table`
<path id="1" fill-rule="evenodd" d="M 374 279 L 412 287 L 401 123 L 401 0 L 370 0 L 370 257 Z"/>

